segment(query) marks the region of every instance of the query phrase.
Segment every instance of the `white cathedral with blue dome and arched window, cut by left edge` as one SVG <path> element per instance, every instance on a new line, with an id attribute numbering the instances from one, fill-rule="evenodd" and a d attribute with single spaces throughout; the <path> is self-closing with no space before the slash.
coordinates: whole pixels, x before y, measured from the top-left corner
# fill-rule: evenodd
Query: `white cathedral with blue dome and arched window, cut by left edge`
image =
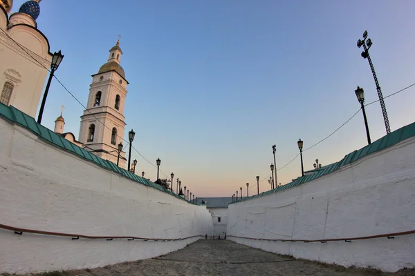
<path id="1" fill-rule="evenodd" d="M 39 2 L 27 1 L 12 13 L 12 0 L 0 1 L 0 102 L 35 117 L 52 54 L 37 29 Z"/>

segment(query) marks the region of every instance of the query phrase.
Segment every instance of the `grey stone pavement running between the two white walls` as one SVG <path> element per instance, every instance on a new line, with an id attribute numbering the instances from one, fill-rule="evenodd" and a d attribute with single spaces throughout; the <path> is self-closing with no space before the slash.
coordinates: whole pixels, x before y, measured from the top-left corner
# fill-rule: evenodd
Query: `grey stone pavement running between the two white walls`
<path id="1" fill-rule="evenodd" d="M 378 270 L 344 268 L 294 259 L 236 244 L 228 240 L 200 240 L 167 255 L 126 262 L 103 268 L 74 270 L 65 273 L 39 274 L 65 276 L 141 276 L 141 275 L 415 275 L 415 270 L 381 273 Z M 26 275 L 29 276 L 29 275 Z"/>

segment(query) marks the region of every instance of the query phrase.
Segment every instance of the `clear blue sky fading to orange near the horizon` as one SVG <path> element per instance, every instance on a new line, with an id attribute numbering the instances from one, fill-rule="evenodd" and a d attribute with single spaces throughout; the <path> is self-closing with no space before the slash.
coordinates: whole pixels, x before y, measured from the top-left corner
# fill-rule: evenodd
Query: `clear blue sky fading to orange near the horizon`
<path id="1" fill-rule="evenodd" d="M 22 0 L 15 0 L 17 11 Z M 415 1 L 47 1 L 38 28 L 50 51 L 65 55 L 57 77 L 84 105 L 91 75 L 107 61 L 118 34 L 128 86 L 127 132 L 165 175 L 174 172 L 198 197 L 230 196 L 255 176 L 265 179 L 277 145 L 277 168 L 320 141 L 366 102 L 378 99 L 356 41 L 368 30 L 383 95 L 415 83 Z M 415 118 L 415 86 L 385 99 L 392 130 Z M 53 130 L 60 106 L 65 131 L 79 134 L 84 108 L 53 81 L 42 123 Z M 372 141 L 385 135 L 380 104 L 367 106 Z M 304 152 L 339 161 L 367 144 L 359 113 Z M 137 170 L 156 168 L 133 152 Z M 299 157 L 277 172 L 286 184 L 301 175 Z M 268 190 L 268 181 L 259 184 Z M 176 188 L 176 185 L 174 185 Z"/>

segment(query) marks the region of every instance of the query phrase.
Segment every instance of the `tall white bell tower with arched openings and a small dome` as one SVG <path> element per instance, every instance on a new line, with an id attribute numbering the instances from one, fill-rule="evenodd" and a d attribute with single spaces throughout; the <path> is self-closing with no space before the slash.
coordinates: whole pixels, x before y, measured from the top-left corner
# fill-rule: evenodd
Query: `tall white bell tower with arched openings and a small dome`
<path id="1" fill-rule="evenodd" d="M 129 84 L 120 66 L 121 55 L 118 40 L 116 46 L 109 50 L 107 63 L 101 66 L 97 74 L 92 75 L 79 135 L 85 150 L 115 164 L 118 161 L 118 144 L 124 144 L 123 114 Z M 125 152 L 120 152 L 119 166 L 126 168 L 126 161 Z"/>

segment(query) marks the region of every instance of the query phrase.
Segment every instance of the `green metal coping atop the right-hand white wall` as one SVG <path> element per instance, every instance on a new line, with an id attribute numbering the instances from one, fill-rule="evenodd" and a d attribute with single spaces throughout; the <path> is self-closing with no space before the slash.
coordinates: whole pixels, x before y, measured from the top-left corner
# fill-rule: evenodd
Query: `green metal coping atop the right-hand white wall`
<path id="1" fill-rule="evenodd" d="M 400 141 L 404 141 L 414 136 L 415 136 L 415 123 L 412 123 L 402 128 L 399 128 L 398 130 L 395 130 L 394 132 L 389 133 L 389 135 L 385 135 L 384 137 L 374 141 L 370 145 L 367 145 L 364 148 L 360 148 L 360 150 L 354 150 L 353 152 L 350 152 L 348 155 L 346 155 L 342 160 L 338 162 L 335 162 L 330 165 L 326 165 L 322 167 L 320 170 L 315 170 L 315 172 L 311 175 L 304 175 L 304 177 L 298 177 L 294 181 L 291 181 L 290 183 L 284 186 L 280 186 L 273 190 L 268 190 L 266 192 L 260 193 L 259 195 L 252 195 L 252 197 L 239 199 L 238 201 L 234 201 L 230 204 L 233 204 L 239 201 L 255 199 L 257 197 L 263 197 L 264 195 L 269 195 L 270 193 L 277 193 L 279 191 L 286 190 L 288 188 L 292 188 L 295 186 L 299 186 L 309 181 L 313 181 L 319 177 L 328 175 L 331 172 L 335 172 L 335 170 L 338 170 L 342 166 L 346 166 L 348 164 L 356 162 L 359 159 L 362 159 L 363 157 L 367 155 L 370 155 L 374 152 L 378 152 L 385 148 L 389 148 L 390 146 L 394 146 L 395 144 L 398 144 Z"/>

